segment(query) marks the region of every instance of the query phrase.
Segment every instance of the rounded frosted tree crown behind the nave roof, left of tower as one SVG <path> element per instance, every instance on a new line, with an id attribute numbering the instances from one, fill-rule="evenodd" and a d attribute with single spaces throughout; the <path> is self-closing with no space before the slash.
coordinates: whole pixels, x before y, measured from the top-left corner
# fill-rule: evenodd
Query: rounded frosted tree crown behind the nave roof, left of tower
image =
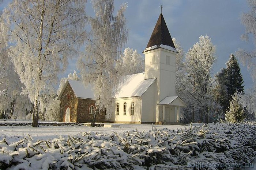
<path id="1" fill-rule="evenodd" d="M 144 60 L 142 56 L 132 48 L 125 48 L 123 55 L 121 55 L 121 64 L 123 68 L 123 75 L 131 75 L 143 72 Z"/>

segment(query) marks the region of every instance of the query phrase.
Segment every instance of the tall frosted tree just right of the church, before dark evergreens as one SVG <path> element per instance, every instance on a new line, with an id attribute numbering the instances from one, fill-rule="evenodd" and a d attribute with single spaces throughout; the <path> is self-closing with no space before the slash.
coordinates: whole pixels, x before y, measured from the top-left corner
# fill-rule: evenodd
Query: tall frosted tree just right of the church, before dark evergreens
<path id="1" fill-rule="evenodd" d="M 189 49 L 185 57 L 187 84 L 189 85 L 183 87 L 197 103 L 197 108 L 200 109 L 200 120 L 203 115 L 205 116 L 205 123 L 208 123 L 209 114 L 216 106 L 212 96 L 213 81 L 211 78 L 211 70 L 215 62 L 215 48 L 209 36 L 200 36 L 199 42 Z"/>

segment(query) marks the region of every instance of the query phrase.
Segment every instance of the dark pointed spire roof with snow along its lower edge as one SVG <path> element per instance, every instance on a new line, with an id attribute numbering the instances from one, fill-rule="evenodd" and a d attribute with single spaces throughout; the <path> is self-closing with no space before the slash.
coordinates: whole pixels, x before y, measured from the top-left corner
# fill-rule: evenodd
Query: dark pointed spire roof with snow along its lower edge
<path id="1" fill-rule="evenodd" d="M 154 31 L 148 41 L 147 47 L 143 52 L 155 50 L 157 48 L 164 48 L 173 52 L 178 52 L 174 46 L 172 37 L 165 23 L 162 13 L 159 15 L 157 24 L 155 24 Z"/>

